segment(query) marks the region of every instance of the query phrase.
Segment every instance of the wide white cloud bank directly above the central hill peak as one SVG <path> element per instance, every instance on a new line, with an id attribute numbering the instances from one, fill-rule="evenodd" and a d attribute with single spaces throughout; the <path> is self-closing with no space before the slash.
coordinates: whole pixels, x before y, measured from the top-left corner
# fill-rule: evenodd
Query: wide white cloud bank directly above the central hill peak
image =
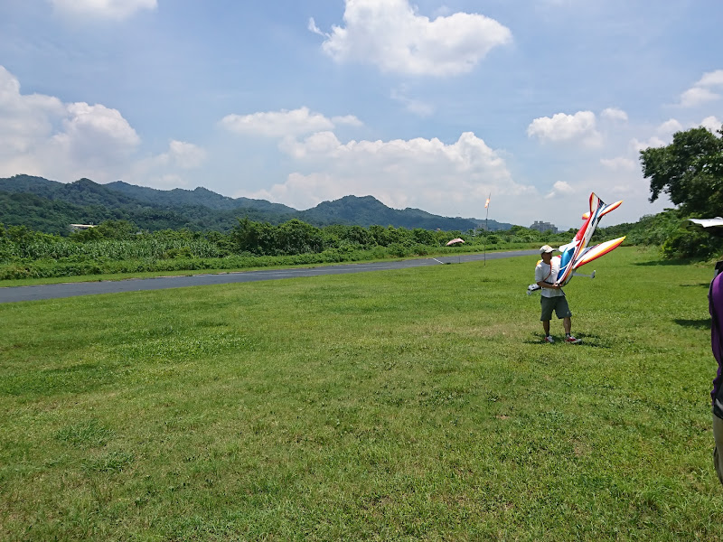
<path id="1" fill-rule="evenodd" d="M 451 145 L 437 138 L 344 144 L 321 132 L 303 141 L 286 139 L 282 149 L 297 160 L 297 171 L 269 190 L 237 195 L 307 209 L 349 194 L 371 194 L 396 209 L 428 209 L 434 201 L 435 212 L 447 216 L 477 201 L 482 216 L 490 192 L 509 201 L 535 193 L 513 182 L 502 157 L 469 132 Z"/>

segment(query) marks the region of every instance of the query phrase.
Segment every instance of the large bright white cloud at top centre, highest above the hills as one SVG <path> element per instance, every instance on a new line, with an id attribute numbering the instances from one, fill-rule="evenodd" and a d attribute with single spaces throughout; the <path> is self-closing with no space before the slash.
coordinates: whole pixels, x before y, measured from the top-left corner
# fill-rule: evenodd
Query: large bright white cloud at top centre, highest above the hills
<path id="1" fill-rule="evenodd" d="M 346 0 L 344 27 L 333 26 L 322 44 L 334 61 L 375 64 L 380 70 L 443 77 L 474 70 L 510 30 L 481 14 L 455 13 L 430 20 L 408 0 Z M 312 22 L 312 32 L 322 33 Z"/>

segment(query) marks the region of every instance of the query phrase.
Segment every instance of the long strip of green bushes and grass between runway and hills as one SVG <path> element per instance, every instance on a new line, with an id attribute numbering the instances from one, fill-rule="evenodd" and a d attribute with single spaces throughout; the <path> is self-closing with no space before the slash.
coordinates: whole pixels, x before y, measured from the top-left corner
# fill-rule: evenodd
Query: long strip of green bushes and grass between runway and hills
<path id="1" fill-rule="evenodd" d="M 553 235 L 521 226 L 494 233 L 392 226 L 316 228 L 297 219 L 275 226 L 245 218 L 237 220 L 229 233 L 190 229 L 148 232 L 139 231 L 127 220 L 107 220 L 95 228 L 61 236 L 0 224 L 0 280 L 418 257 L 563 244 L 574 233 L 570 230 Z M 463 238 L 465 244 L 446 247 L 453 238 Z"/>

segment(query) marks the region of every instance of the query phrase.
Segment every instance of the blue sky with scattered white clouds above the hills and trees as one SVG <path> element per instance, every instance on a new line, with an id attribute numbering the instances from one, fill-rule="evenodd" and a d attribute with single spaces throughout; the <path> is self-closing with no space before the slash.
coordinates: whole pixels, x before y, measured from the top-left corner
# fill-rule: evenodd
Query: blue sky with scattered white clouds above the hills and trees
<path id="1" fill-rule="evenodd" d="M 0 176 L 576 227 L 723 123 L 719 0 L 5 0 Z"/>

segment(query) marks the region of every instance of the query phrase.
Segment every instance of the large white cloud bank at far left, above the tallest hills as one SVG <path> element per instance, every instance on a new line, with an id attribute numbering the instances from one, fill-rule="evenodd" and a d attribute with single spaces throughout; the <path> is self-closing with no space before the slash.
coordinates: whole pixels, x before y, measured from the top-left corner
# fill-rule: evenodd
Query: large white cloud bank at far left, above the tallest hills
<path id="1" fill-rule="evenodd" d="M 166 152 L 138 160 L 140 145 L 140 136 L 117 109 L 23 95 L 18 79 L 0 66 L 0 177 L 123 178 L 167 188 L 186 184 L 179 173 L 206 159 L 200 146 L 172 140 Z"/>

